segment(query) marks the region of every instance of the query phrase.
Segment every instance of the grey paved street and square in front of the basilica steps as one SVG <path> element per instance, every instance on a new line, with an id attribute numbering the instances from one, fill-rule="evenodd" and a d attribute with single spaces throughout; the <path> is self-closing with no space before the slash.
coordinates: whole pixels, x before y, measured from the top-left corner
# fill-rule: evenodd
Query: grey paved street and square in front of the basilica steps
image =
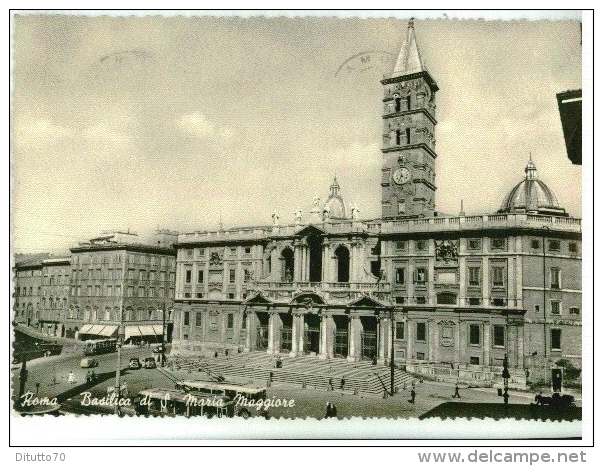
<path id="1" fill-rule="evenodd" d="M 169 348 L 168 348 L 169 350 Z M 138 392 L 147 388 L 174 388 L 173 379 L 209 380 L 202 372 L 190 373 L 188 371 L 162 371 L 160 369 L 129 369 L 130 358 L 137 357 L 141 361 L 150 356 L 156 356 L 151 348 L 124 347 L 121 354 L 121 383 L 128 387 L 128 396 L 134 397 Z M 68 390 L 75 393 L 62 402 L 62 411 L 74 413 L 112 413 L 112 406 L 84 406 L 81 393 L 90 392 L 92 397 L 98 399 L 107 396 L 107 388 L 115 385 L 115 370 L 117 354 L 98 355 L 94 358 L 99 361 L 98 367 L 80 368 L 80 360 L 84 357 L 81 348 L 70 348 L 70 352 L 58 356 L 50 356 L 30 361 L 27 365 L 28 378 L 25 391 L 32 392 L 38 398 L 53 398 Z M 168 356 L 169 357 L 169 356 Z M 167 369 L 167 365 L 166 365 Z M 94 370 L 96 374 L 103 375 L 105 380 L 96 385 L 83 386 L 86 382 L 86 373 Z M 69 383 L 69 372 L 73 371 L 75 382 Z M 171 376 L 171 378 L 169 377 Z M 19 370 L 13 370 L 13 387 L 18 390 Z M 239 382 L 232 380 L 232 382 Z M 262 382 L 255 381 L 255 385 Z M 39 385 L 38 385 L 39 384 Z M 393 397 L 383 398 L 374 395 L 354 395 L 351 391 L 320 389 L 302 389 L 299 385 L 288 383 L 273 383 L 267 388 L 267 399 L 294 400 L 293 405 L 287 407 L 271 407 L 270 417 L 282 418 L 324 418 L 328 402 L 335 405 L 336 416 L 340 419 L 351 417 L 390 417 L 414 418 L 424 415 L 443 403 L 462 403 L 464 413 L 480 417 L 477 404 L 503 404 L 502 397 L 497 395 L 495 388 L 468 388 L 459 385 L 460 398 L 453 398 L 454 384 L 440 382 L 417 382 L 415 384 L 415 401 L 411 402 L 410 387 Z M 534 393 L 510 392 L 510 405 L 529 405 L 534 401 Z M 576 400 L 580 406 L 580 398 Z M 476 404 L 476 411 L 472 412 L 471 404 Z"/>

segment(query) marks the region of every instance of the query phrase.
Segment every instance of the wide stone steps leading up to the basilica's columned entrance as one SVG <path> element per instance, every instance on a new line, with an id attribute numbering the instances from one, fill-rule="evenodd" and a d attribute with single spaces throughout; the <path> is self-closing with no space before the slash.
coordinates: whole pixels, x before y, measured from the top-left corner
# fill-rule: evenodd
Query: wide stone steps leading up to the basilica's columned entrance
<path id="1" fill-rule="evenodd" d="M 370 361 L 348 362 L 345 359 L 321 360 L 316 356 L 296 358 L 282 357 L 282 367 L 274 368 L 274 357 L 266 353 L 252 352 L 232 356 L 172 357 L 170 368 L 185 373 L 204 373 L 215 378 L 223 376 L 267 383 L 272 373 L 273 382 L 286 382 L 306 388 L 327 390 L 329 381 L 335 390 L 382 395 L 390 391 L 390 368 L 374 366 Z M 187 378 L 194 378 L 192 375 Z M 403 390 L 410 386 L 413 376 L 401 369 L 394 372 L 394 389 Z"/>

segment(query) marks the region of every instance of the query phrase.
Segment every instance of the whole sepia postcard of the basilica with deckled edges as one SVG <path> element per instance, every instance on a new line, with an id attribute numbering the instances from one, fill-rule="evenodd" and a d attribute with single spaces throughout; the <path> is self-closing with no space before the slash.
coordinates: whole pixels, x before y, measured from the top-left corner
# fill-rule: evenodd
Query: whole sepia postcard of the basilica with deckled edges
<path id="1" fill-rule="evenodd" d="M 13 24 L 20 426 L 576 436 L 579 18 Z"/>

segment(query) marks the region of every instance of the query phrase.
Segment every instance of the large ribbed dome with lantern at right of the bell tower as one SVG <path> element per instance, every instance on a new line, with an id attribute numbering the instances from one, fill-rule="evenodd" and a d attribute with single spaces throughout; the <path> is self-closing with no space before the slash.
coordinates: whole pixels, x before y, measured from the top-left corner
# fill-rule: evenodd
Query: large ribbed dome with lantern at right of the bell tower
<path id="1" fill-rule="evenodd" d="M 525 168 L 525 179 L 515 185 L 505 197 L 498 212 L 500 213 L 530 213 L 543 215 L 558 215 L 566 217 L 565 209 L 559 206 L 557 196 L 551 189 L 538 179 L 536 165 L 532 157 Z"/>

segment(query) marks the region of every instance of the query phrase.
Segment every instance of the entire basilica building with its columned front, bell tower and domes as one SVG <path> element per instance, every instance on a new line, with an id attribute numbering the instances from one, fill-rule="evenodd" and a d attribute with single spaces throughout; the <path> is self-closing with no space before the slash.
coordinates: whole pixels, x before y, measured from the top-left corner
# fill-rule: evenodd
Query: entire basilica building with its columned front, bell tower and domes
<path id="1" fill-rule="evenodd" d="M 181 234 L 173 350 L 372 360 L 512 382 L 581 365 L 581 222 L 527 161 L 497 212 L 436 210 L 436 93 L 409 23 L 383 85 L 382 215 L 334 179 L 292 223 Z M 519 171 L 519 170 L 518 170 Z M 520 174 L 518 173 L 518 178 Z"/>

